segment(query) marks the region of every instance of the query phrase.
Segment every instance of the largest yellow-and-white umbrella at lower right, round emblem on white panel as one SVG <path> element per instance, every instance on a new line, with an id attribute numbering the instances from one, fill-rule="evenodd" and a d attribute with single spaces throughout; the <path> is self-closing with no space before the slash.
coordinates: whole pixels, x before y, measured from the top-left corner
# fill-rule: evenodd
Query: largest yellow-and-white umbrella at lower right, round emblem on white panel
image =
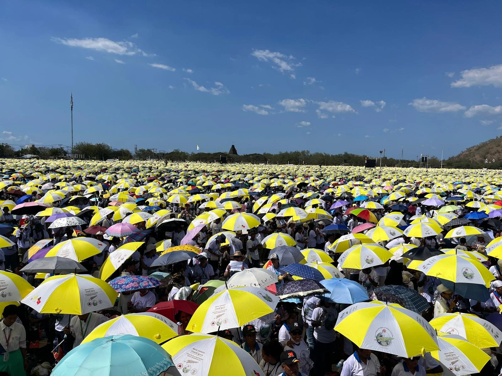
<path id="1" fill-rule="evenodd" d="M 418 313 L 378 300 L 344 309 L 335 330 L 360 348 L 407 358 L 439 350 L 435 330 Z"/>

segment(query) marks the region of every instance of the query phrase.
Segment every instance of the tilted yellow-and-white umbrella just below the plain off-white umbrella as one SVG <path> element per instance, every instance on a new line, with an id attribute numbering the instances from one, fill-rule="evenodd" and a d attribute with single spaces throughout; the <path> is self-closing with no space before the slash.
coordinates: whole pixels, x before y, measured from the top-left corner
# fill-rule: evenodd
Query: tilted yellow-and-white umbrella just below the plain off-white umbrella
<path id="1" fill-rule="evenodd" d="M 211 333 L 236 328 L 274 312 L 279 298 L 256 287 L 236 287 L 214 294 L 195 311 L 187 330 Z"/>

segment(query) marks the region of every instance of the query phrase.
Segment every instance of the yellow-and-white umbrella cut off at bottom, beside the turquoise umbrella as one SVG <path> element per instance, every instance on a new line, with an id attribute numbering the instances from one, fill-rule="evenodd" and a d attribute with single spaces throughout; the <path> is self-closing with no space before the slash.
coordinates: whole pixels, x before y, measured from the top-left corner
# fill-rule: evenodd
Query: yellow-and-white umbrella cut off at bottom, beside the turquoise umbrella
<path id="1" fill-rule="evenodd" d="M 174 338 L 162 346 L 173 355 L 180 374 L 217 376 L 228 374 L 229 369 L 232 376 L 264 374 L 246 350 L 215 335 L 192 333 Z"/>

